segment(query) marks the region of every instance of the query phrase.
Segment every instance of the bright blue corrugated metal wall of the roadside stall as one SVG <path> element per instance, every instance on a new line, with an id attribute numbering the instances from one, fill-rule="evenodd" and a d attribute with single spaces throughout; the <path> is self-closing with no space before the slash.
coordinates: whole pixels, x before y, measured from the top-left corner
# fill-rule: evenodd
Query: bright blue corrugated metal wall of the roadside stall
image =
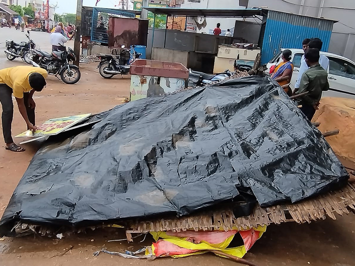
<path id="1" fill-rule="evenodd" d="M 267 63 L 281 48 L 302 48 L 305 38 L 320 38 L 322 51 L 328 51 L 333 21 L 306 17 L 278 11 L 268 11 L 263 46 L 262 63 Z"/>

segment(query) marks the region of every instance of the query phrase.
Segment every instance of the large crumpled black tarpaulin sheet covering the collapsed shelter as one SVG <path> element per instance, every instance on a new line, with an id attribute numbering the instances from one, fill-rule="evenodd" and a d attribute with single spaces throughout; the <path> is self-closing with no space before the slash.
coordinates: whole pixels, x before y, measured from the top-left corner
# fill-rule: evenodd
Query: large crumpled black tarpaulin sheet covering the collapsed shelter
<path id="1" fill-rule="evenodd" d="M 100 114 L 89 131 L 47 142 L 0 221 L 88 226 L 186 215 L 250 187 L 262 206 L 345 185 L 321 133 L 269 78 L 147 98 Z"/>

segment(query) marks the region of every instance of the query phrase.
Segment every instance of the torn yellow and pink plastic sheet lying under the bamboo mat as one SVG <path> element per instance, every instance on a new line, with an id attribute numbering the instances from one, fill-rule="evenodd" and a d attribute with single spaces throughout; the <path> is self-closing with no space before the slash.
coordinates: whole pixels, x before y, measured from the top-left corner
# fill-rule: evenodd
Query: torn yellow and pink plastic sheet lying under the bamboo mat
<path id="1" fill-rule="evenodd" d="M 266 226 L 239 231 L 244 245 L 228 248 L 238 230 L 231 231 L 186 231 L 186 232 L 150 232 L 157 241 L 152 245 L 154 256 L 186 257 L 217 250 L 242 258 L 252 245 L 266 231 Z M 148 253 L 146 252 L 146 255 Z"/>

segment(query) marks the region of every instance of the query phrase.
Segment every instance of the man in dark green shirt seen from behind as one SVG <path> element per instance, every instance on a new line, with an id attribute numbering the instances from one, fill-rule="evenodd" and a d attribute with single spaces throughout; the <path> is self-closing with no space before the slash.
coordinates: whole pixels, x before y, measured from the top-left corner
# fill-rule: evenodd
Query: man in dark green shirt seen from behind
<path id="1" fill-rule="evenodd" d="M 309 68 L 302 75 L 300 89 L 297 92 L 297 94 L 308 92 L 298 100 L 298 104 L 302 105 L 300 109 L 310 121 L 318 110 L 322 92 L 329 89 L 328 73 L 319 64 L 319 57 L 319 50 L 316 48 L 308 49 L 306 52 L 305 61 Z"/>

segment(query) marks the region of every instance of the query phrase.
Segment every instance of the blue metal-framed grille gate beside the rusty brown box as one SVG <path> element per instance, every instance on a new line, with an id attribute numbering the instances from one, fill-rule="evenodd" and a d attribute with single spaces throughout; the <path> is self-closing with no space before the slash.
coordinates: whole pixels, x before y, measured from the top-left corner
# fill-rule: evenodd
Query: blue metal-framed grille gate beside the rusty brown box
<path id="1" fill-rule="evenodd" d="M 108 44 L 108 28 L 109 17 L 131 17 L 134 18 L 134 13 L 114 9 L 105 9 L 94 7 L 92 11 L 92 25 L 91 25 L 91 41 L 102 44 Z"/>

